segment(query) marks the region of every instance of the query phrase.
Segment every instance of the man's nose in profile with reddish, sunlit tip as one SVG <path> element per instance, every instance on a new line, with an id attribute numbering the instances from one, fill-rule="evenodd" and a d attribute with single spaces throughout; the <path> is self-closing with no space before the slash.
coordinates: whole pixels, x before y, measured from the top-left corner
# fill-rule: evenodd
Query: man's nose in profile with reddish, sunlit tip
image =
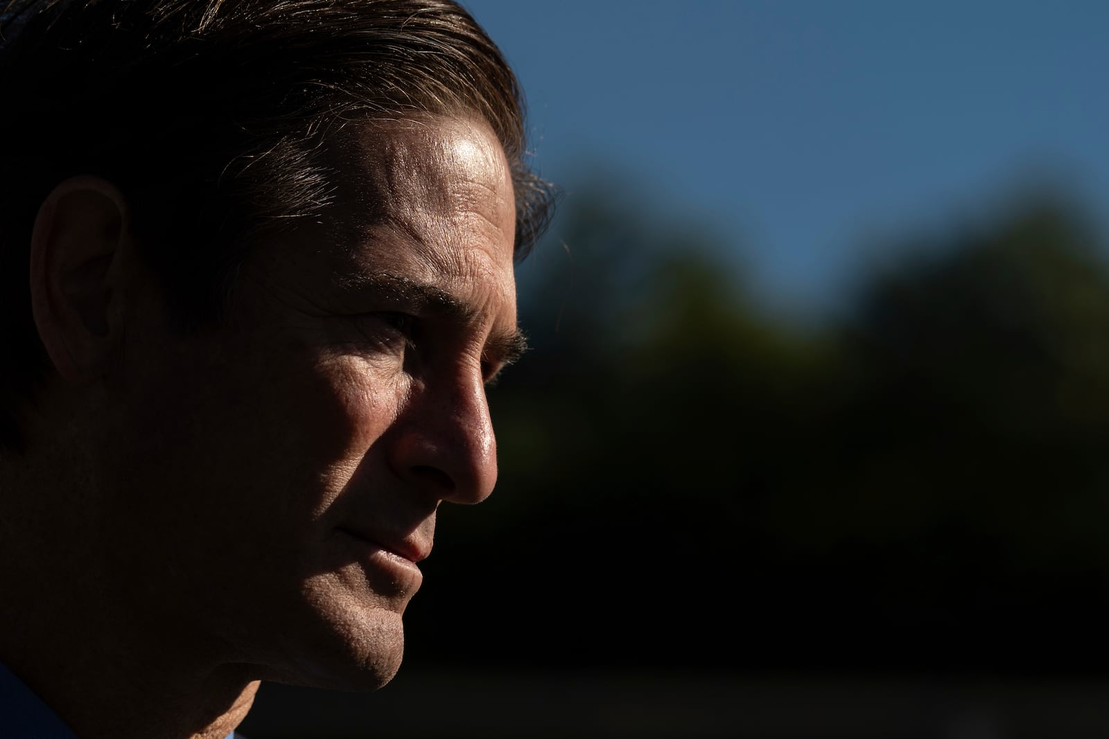
<path id="1" fill-rule="evenodd" d="M 406 482 L 438 500 L 480 503 L 497 483 L 497 440 L 480 370 L 414 388 L 394 443 Z"/>

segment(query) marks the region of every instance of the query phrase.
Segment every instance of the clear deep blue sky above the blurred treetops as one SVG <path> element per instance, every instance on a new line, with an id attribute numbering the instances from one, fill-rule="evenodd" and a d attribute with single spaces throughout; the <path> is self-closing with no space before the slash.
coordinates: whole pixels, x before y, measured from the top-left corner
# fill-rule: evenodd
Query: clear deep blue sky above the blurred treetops
<path id="1" fill-rule="evenodd" d="M 818 312 L 889 235 L 1068 183 L 1109 224 L 1109 2 L 464 0 L 545 176 L 624 174 Z"/>

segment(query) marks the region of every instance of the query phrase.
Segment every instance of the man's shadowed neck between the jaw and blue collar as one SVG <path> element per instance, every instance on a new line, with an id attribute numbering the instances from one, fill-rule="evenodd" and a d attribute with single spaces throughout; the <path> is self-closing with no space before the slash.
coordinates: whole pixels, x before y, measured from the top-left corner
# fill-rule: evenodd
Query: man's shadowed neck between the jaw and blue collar
<path id="1" fill-rule="evenodd" d="M 121 591 L 104 575 L 80 481 L 58 481 L 69 505 L 51 503 L 28 469 L 14 474 L 0 460 L 0 661 L 82 739 L 231 733 L 254 700 L 255 673 L 185 633 L 191 618 L 139 619 L 143 585 Z"/>

